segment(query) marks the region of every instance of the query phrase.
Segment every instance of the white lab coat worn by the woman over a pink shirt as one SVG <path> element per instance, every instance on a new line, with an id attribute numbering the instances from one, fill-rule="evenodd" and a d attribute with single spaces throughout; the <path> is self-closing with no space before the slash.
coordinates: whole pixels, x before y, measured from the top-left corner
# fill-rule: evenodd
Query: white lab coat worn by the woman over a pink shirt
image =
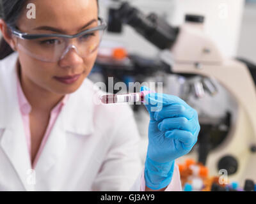
<path id="1" fill-rule="evenodd" d="M 31 170 L 17 98 L 17 57 L 0 61 L 0 191 L 139 191 L 143 169 L 132 110 L 94 103 L 99 91 L 88 79 L 70 94 Z M 174 190 L 180 189 L 178 171 L 175 166 Z"/>

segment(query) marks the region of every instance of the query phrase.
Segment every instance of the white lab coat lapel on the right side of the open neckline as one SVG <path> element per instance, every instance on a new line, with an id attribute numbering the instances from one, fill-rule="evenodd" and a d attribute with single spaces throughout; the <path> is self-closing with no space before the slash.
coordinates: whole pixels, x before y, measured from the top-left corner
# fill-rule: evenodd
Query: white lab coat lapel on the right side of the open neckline
<path id="1" fill-rule="evenodd" d="M 93 133 L 93 105 L 84 99 L 82 91 L 86 94 L 84 89 L 70 94 L 67 104 L 63 106 L 35 166 L 36 182 L 44 182 L 47 171 L 58 159 L 63 159 L 65 149 L 70 149 L 65 133 L 75 137 Z"/>

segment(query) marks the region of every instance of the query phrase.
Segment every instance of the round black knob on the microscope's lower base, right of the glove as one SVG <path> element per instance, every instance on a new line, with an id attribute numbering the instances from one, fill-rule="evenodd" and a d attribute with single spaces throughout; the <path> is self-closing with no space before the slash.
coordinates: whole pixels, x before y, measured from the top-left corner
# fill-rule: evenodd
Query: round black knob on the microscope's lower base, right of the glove
<path id="1" fill-rule="evenodd" d="M 237 159 L 233 156 L 222 157 L 218 163 L 218 169 L 225 169 L 228 172 L 228 175 L 236 173 L 238 168 Z"/>

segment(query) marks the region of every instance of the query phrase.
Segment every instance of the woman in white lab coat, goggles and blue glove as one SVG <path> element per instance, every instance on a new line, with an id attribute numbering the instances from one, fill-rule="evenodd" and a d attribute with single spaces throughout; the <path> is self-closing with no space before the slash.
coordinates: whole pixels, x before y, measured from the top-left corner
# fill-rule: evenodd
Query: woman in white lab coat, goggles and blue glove
<path id="1" fill-rule="evenodd" d="M 29 3 L 35 18 L 29 18 Z M 197 140 L 197 113 L 177 97 L 147 94 L 141 169 L 131 109 L 93 103 L 100 92 L 86 78 L 106 29 L 97 1 L 2 4 L 0 190 L 179 191 L 175 159 Z M 157 112 L 155 96 L 161 99 Z"/>

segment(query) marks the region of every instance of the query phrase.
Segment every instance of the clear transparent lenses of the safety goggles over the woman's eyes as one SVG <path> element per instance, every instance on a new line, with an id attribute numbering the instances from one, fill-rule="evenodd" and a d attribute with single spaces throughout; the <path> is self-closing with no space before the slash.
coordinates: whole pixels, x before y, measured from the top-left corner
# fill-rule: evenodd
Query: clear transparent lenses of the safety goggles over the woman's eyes
<path id="1" fill-rule="evenodd" d="M 24 40 L 17 38 L 20 50 L 31 57 L 45 62 L 57 62 L 63 53 L 72 44 L 77 48 L 80 57 L 89 57 L 99 47 L 104 31 L 92 31 L 77 38 L 38 38 L 35 40 Z"/>

